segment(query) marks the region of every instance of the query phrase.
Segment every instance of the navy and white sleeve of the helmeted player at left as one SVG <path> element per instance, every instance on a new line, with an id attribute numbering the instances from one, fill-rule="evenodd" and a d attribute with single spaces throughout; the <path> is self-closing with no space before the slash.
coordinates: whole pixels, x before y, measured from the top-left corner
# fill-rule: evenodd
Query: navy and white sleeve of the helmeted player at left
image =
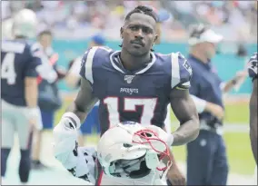
<path id="1" fill-rule="evenodd" d="M 38 73 L 36 67 L 42 64 L 43 51 L 39 44 L 33 44 L 28 46 L 28 56 L 30 56 L 28 64 L 26 65 L 25 76 L 27 77 L 37 77 Z"/>

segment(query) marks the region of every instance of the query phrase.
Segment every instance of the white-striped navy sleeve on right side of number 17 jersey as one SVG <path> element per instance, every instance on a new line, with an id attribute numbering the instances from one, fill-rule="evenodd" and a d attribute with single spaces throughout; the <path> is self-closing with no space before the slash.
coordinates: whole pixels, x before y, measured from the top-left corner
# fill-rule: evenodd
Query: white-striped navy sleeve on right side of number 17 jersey
<path id="1" fill-rule="evenodd" d="M 190 88 L 190 80 L 193 75 L 193 70 L 189 62 L 181 53 L 171 54 L 171 88 L 176 87 L 179 90 Z"/>

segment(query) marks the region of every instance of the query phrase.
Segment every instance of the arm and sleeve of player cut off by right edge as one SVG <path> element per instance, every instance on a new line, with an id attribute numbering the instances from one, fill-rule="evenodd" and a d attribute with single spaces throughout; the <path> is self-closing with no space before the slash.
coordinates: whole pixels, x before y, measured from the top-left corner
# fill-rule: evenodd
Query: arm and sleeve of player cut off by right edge
<path id="1" fill-rule="evenodd" d="M 253 151 L 253 157 L 257 164 L 257 53 L 253 54 L 249 63 L 248 63 L 248 73 L 249 76 L 253 79 L 253 92 L 251 95 L 249 110 L 250 110 L 250 139 Z"/>

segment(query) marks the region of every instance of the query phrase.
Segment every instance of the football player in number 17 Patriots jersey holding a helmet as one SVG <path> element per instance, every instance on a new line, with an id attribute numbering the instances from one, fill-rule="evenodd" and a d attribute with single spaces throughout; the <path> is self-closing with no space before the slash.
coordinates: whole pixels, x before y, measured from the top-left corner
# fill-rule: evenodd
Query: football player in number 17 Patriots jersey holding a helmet
<path id="1" fill-rule="evenodd" d="M 180 127 L 169 135 L 167 144 L 184 145 L 198 136 L 198 114 L 188 91 L 191 66 L 180 53 L 153 52 L 158 38 L 156 24 L 152 9 L 137 6 L 125 16 L 120 30 L 121 51 L 93 47 L 84 54 L 81 89 L 54 130 L 55 157 L 75 176 L 87 178 L 87 174 L 80 175 L 76 171 L 79 155 L 74 137 L 68 136 L 80 128 L 98 100 L 101 134 L 114 124 L 126 121 L 164 129 L 167 104 L 170 103 Z M 61 148 L 62 144 L 65 148 Z M 123 179 L 107 181 L 109 178 L 99 163 L 97 167 L 97 185 L 111 184 L 112 181 L 113 184 L 123 184 Z"/>

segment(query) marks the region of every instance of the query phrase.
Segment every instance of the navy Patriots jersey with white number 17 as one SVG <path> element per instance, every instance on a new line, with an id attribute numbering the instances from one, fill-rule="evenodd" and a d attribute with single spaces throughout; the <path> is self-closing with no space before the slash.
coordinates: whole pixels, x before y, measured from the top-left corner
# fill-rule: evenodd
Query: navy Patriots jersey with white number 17
<path id="1" fill-rule="evenodd" d="M 101 132 L 118 122 L 139 122 L 164 128 L 173 88 L 188 89 L 192 69 L 182 54 L 154 54 L 152 62 L 130 72 L 120 51 L 93 47 L 82 59 L 81 76 L 92 84 L 100 100 Z"/>

